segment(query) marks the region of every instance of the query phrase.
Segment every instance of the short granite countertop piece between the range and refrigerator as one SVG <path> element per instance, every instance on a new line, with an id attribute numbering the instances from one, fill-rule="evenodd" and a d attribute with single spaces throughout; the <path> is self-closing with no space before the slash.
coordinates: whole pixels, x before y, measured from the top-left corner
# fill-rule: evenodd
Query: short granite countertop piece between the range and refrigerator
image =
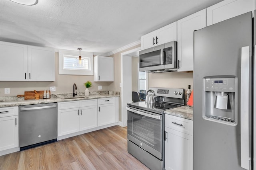
<path id="1" fill-rule="evenodd" d="M 193 107 L 181 106 L 164 111 L 164 113 L 193 120 Z"/>

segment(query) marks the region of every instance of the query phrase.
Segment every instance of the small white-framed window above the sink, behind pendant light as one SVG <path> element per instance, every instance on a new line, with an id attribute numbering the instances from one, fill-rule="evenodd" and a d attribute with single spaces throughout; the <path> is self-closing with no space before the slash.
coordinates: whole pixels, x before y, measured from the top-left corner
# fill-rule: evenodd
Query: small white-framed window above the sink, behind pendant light
<path id="1" fill-rule="evenodd" d="M 59 74 L 93 75 L 93 53 L 59 50 Z"/>

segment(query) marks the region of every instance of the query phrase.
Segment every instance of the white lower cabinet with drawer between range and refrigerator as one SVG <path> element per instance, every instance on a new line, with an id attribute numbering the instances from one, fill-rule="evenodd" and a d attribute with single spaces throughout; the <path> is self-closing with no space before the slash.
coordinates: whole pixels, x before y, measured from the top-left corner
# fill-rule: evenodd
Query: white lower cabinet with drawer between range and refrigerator
<path id="1" fill-rule="evenodd" d="M 165 169 L 193 169 L 193 121 L 165 114 Z"/>

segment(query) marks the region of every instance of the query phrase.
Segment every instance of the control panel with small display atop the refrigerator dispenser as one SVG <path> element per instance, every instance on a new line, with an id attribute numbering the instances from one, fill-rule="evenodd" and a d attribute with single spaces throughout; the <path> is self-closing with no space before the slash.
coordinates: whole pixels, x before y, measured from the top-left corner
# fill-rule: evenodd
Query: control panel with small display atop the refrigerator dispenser
<path id="1" fill-rule="evenodd" d="M 204 78 L 204 90 L 208 92 L 235 92 L 235 78 Z"/>

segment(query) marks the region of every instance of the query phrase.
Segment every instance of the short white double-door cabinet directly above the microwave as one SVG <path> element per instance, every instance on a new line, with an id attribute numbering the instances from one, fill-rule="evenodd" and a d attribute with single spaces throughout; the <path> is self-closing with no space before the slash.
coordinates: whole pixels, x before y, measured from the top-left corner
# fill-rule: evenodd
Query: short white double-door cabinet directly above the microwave
<path id="1" fill-rule="evenodd" d="M 141 49 L 177 41 L 177 22 L 166 25 L 141 37 Z"/>

